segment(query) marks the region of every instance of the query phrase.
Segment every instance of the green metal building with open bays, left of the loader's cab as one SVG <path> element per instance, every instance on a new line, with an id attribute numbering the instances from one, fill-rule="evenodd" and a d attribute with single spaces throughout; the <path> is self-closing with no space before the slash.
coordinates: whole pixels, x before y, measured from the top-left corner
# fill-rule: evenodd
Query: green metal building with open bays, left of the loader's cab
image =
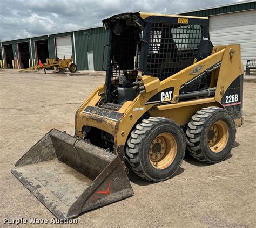
<path id="1" fill-rule="evenodd" d="M 89 69 L 88 52 L 93 53 L 93 69 L 102 70 L 103 47 L 109 40 L 109 32 L 105 31 L 102 26 L 2 42 L 0 46 L 1 60 L 3 55 L 5 68 L 14 67 L 17 69 L 17 65 L 19 65 L 19 68 L 28 68 L 29 61 L 30 66 L 33 66 L 34 64 L 37 65 L 39 60 L 45 62 L 46 58 L 56 58 L 58 55 L 56 50 L 58 38 L 70 38 L 73 61 L 77 64 L 79 70 Z M 58 57 L 63 58 L 63 56 Z M 66 56 L 66 58 L 69 57 Z M 15 66 L 12 66 L 12 60 L 14 60 Z"/>

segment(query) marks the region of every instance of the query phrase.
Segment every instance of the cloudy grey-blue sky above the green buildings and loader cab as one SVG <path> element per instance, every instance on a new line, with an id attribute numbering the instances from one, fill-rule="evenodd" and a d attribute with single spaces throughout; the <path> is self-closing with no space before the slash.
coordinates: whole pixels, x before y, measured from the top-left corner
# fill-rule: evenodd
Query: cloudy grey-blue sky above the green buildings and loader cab
<path id="1" fill-rule="evenodd" d="M 102 25 L 124 12 L 178 13 L 241 0 L 0 0 L 0 40 Z"/>

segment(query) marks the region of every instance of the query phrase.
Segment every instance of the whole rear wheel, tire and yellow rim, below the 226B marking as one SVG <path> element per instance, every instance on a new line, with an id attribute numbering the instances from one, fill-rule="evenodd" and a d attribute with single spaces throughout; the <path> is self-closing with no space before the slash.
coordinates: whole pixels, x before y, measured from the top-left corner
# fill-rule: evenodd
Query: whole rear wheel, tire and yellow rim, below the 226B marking
<path id="1" fill-rule="evenodd" d="M 235 141 L 233 117 L 223 108 L 197 111 L 188 123 L 187 149 L 199 161 L 218 163 L 227 158 Z"/>

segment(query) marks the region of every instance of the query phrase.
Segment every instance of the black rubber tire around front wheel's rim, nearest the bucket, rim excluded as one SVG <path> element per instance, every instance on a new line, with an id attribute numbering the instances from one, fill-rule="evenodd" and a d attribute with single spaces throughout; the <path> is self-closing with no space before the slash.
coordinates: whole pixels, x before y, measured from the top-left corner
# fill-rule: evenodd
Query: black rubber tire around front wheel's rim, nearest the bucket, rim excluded
<path id="1" fill-rule="evenodd" d="M 177 154 L 169 167 L 156 169 L 150 163 L 149 147 L 161 133 L 171 133 L 177 143 Z M 172 177 L 184 159 L 186 139 L 180 126 L 170 119 L 150 117 L 137 124 L 127 140 L 126 157 L 130 168 L 138 176 L 149 181 L 164 181 Z"/>

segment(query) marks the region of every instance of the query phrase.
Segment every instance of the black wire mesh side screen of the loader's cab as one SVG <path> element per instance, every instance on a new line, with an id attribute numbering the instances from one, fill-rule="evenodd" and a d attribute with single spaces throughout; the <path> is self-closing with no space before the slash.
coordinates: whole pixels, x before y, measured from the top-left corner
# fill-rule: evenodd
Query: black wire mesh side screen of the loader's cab
<path id="1" fill-rule="evenodd" d="M 163 80 L 192 65 L 201 39 L 200 25 L 152 23 L 147 74 Z"/>

